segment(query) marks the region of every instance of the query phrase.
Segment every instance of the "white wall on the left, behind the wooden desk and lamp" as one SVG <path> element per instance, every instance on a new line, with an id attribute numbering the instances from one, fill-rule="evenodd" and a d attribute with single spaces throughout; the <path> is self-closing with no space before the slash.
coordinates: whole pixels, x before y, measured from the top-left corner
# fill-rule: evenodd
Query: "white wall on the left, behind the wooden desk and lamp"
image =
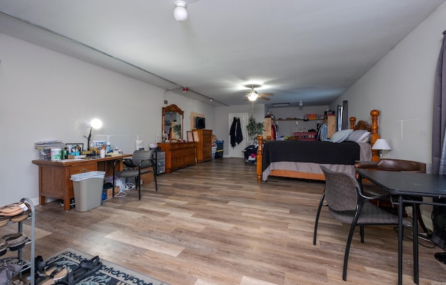
<path id="1" fill-rule="evenodd" d="M 2 33 L 0 46 L 0 205 L 22 197 L 38 203 L 36 141 L 86 145 L 85 122 L 95 117 L 104 125 L 92 139 L 112 134 L 112 147 L 124 153 L 134 151 L 137 136 L 147 148 L 161 134 L 164 90 Z M 185 111 L 183 130 L 191 111 L 214 128 L 212 106 L 171 92 L 166 98 Z"/>

